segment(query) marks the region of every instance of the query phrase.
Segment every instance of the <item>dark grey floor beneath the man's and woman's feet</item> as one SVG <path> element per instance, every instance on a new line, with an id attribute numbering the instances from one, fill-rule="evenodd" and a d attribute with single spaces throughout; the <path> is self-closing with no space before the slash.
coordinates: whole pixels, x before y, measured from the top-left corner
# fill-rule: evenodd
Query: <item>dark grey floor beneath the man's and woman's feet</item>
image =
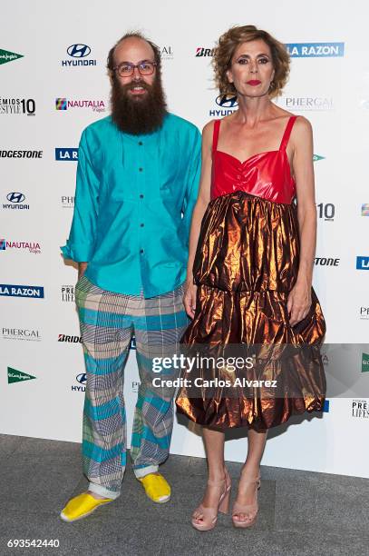
<path id="1" fill-rule="evenodd" d="M 235 482 L 239 468 L 228 463 Z M 189 518 L 204 488 L 205 462 L 170 456 L 160 471 L 172 487 L 167 504 L 149 501 L 128 469 L 117 501 L 64 523 L 64 502 L 86 485 L 80 445 L 0 435 L 0 554 L 369 555 L 368 480 L 263 466 L 256 525 L 236 530 L 220 515 L 214 531 L 199 532 Z M 11 539 L 58 539 L 60 547 L 8 548 Z"/>

